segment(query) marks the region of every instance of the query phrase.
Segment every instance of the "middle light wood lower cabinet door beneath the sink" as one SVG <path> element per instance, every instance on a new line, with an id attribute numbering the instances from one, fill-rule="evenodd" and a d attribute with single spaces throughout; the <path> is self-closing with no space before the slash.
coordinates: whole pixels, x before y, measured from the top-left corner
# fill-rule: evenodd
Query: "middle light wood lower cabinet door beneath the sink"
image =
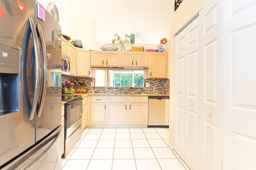
<path id="1" fill-rule="evenodd" d="M 108 124 L 127 125 L 127 103 L 108 104 Z"/>

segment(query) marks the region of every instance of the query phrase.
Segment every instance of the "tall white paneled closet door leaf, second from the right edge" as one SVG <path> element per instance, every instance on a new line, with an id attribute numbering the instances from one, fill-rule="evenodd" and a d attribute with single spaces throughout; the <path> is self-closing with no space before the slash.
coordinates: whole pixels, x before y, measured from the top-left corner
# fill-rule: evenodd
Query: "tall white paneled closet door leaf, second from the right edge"
<path id="1" fill-rule="evenodd" d="M 222 76 L 220 4 L 209 0 L 199 12 L 200 169 L 222 169 Z"/>

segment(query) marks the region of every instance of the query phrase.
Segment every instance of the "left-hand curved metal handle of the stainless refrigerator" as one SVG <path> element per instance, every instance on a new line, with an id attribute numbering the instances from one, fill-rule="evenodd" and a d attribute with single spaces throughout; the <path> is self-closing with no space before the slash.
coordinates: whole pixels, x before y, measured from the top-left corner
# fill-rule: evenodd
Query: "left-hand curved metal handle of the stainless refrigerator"
<path id="1" fill-rule="evenodd" d="M 33 38 L 33 47 L 34 47 L 34 56 L 35 56 L 35 81 L 34 81 L 34 88 L 33 88 L 33 99 L 32 104 L 30 104 L 30 98 L 28 93 L 28 80 L 27 80 L 27 60 L 28 60 L 28 43 L 30 41 L 30 34 L 32 34 Z M 38 95 L 40 90 L 40 50 L 39 50 L 39 43 L 38 37 L 36 36 L 36 27 L 34 21 L 31 17 L 28 18 L 28 24 L 26 27 L 25 37 L 24 37 L 24 46 L 23 46 L 23 54 L 22 54 L 22 84 L 23 84 L 23 96 L 24 96 L 24 103 L 26 105 L 26 110 L 28 114 L 28 118 L 31 121 L 34 117 L 36 112 L 36 106 L 38 102 Z M 33 56 L 32 56 L 33 57 Z M 33 69 L 33 68 L 32 68 Z M 33 85 L 32 85 L 33 86 Z"/>

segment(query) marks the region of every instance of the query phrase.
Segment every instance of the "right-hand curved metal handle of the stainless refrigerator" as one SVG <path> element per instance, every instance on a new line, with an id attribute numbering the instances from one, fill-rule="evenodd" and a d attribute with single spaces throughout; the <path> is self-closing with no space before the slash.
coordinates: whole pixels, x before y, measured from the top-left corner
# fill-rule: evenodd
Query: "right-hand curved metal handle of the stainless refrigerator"
<path id="1" fill-rule="evenodd" d="M 43 106 L 44 106 L 44 99 L 45 99 L 45 95 L 46 95 L 46 86 L 47 86 L 47 80 L 48 80 L 48 66 L 47 66 L 47 53 L 46 53 L 46 45 L 45 45 L 45 41 L 44 41 L 44 35 L 42 32 L 42 28 L 40 26 L 40 24 L 36 25 L 36 32 L 37 35 L 39 37 L 40 43 L 41 43 L 41 49 L 42 49 L 42 61 L 43 61 L 43 83 L 42 83 L 42 94 L 41 94 L 41 98 L 40 98 L 40 102 L 37 108 L 37 116 L 40 117 L 42 110 L 43 110 Z"/>

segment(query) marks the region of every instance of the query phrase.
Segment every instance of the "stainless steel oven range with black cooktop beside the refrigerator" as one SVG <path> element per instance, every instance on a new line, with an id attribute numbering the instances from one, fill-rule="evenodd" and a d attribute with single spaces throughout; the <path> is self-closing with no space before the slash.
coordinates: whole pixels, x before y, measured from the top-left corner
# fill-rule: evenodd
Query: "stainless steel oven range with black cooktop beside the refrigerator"
<path id="1" fill-rule="evenodd" d="M 70 151 L 77 144 L 82 136 L 82 96 L 62 95 L 65 103 L 64 119 L 66 121 L 64 128 L 64 153 L 62 158 L 68 156 Z"/>

